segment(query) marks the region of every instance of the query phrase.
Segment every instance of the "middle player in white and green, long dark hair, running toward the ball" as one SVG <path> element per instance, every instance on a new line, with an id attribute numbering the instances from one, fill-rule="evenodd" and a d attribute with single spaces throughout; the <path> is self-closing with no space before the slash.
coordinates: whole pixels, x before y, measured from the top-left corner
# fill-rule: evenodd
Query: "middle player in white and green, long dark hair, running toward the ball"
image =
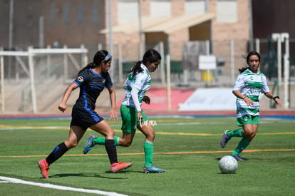
<path id="1" fill-rule="evenodd" d="M 128 78 L 124 83 L 125 98 L 121 103 L 120 114 L 122 117 L 123 131 L 122 138 L 115 136 L 115 145 L 128 147 L 133 142 L 135 131 L 138 128 L 145 135 L 143 148 L 145 151 L 145 166 L 143 172 L 164 172 L 160 167 L 152 163 L 154 152 L 155 130 L 152 123 L 141 109 L 143 102 L 150 104 L 150 98 L 145 96 L 145 92 L 150 89 L 152 78 L 150 72 L 154 72 L 159 67 L 161 61 L 160 53 L 154 49 L 145 52 L 142 61 L 138 61 L 129 71 Z M 104 145 L 105 138 L 95 138 L 91 135 L 84 147 L 86 154 L 94 145 Z"/>

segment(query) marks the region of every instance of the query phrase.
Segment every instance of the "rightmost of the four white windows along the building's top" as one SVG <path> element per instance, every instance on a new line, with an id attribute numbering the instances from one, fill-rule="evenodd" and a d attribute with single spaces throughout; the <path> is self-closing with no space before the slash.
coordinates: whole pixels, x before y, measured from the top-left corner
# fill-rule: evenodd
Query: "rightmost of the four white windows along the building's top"
<path id="1" fill-rule="evenodd" d="M 237 22 L 237 1 L 218 0 L 217 1 L 217 21 Z"/>

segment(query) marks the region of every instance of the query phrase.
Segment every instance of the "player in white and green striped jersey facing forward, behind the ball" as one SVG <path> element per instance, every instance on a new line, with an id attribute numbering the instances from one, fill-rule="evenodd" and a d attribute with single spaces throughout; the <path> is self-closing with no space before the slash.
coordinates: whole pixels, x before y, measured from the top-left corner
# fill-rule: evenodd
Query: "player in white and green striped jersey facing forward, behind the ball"
<path id="1" fill-rule="evenodd" d="M 231 154 L 236 160 L 243 161 L 239 153 L 247 148 L 257 133 L 259 126 L 259 96 L 264 93 L 268 98 L 281 106 L 279 96 L 274 96 L 266 83 L 266 77 L 259 71 L 260 54 L 252 51 L 247 55 L 247 68 L 240 68 L 240 74 L 234 83 L 232 93 L 237 97 L 237 125 L 242 126 L 237 130 L 225 130 L 220 140 L 222 148 L 232 137 L 242 140 Z"/>

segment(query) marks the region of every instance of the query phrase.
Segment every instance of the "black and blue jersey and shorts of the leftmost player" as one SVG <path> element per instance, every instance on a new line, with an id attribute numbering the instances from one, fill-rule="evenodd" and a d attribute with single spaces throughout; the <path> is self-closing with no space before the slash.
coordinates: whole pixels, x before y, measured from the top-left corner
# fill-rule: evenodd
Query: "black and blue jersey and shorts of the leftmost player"
<path id="1" fill-rule="evenodd" d="M 80 87 L 79 98 L 73 105 L 71 126 L 76 125 L 87 130 L 103 118 L 95 112 L 96 99 L 103 88 L 113 87 L 109 73 L 95 73 L 91 68 L 78 74 L 73 81 Z"/>

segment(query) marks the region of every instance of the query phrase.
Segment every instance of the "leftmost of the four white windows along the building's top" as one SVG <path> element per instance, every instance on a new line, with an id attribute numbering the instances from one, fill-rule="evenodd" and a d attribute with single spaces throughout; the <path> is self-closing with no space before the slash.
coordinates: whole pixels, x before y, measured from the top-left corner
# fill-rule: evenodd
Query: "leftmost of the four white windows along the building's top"
<path id="1" fill-rule="evenodd" d="M 138 19 L 138 1 L 121 0 L 118 2 L 118 23 L 123 24 Z"/>

